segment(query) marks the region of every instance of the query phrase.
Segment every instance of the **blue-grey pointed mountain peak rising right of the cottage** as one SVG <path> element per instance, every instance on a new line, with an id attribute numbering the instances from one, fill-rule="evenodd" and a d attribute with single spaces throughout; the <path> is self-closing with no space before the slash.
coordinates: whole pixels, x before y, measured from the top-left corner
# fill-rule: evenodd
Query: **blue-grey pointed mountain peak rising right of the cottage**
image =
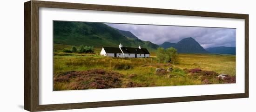
<path id="1" fill-rule="evenodd" d="M 177 49 L 178 53 L 209 53 L 196 40 L 191 37 L 182 39 L 176 44 L 163 43 L 160 46 L 163 45 L 168 45 L 165 46 L 166 48 L 169 48 L 169 46 L 174 47 L 175 49 Z"/>

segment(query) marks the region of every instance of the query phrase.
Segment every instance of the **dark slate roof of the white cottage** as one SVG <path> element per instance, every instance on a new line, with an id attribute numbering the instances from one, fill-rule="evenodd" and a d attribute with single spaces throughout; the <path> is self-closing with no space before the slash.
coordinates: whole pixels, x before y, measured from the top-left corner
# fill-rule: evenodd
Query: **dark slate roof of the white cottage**
<path id="1" fill-rule="evenodd" d="M 106 53 L 122 53 L 119 47 L 103 47 Z M 122 47 L 123 53 L 150 54 L 146 48 Z"/>

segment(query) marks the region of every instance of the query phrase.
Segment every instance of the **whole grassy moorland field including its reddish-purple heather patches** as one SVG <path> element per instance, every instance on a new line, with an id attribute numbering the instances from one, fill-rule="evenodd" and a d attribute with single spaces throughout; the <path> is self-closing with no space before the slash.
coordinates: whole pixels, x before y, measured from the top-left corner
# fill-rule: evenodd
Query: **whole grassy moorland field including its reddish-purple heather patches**
<path id="1" fill-rule="evenodd" d="M 230 83 L 216 78 L 221 73 L 236 76 L 235 55 L 178 54 L 178 63 L 169 64 L 158 63 L 155 53 L 150 58 L 110 58 L 100 56 L 100 48 L 91 54 L 61 53 L 68 45 L 55 46 L 54 90 L 219 84 Z M 155 74 L 156 68 L 169 67 L 172 72 Z"/>

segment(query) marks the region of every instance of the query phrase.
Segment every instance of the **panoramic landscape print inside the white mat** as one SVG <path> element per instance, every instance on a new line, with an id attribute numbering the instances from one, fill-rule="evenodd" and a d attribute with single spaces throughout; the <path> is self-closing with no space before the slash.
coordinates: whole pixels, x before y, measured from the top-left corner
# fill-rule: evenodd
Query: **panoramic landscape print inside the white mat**
<path id="1" fill-rule="evenodd" d="M 53 89 L 236 83 L 236 28 L 53 21 Z"/>

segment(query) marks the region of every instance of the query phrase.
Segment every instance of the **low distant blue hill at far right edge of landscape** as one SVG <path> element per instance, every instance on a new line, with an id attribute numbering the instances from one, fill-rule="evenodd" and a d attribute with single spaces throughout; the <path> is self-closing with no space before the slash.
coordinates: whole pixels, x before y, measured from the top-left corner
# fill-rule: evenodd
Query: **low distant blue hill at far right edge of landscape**
<path id="1" fill-rule="evenodd" d="M 206 50 L 210 53 L 236 55 L 236 47 L 219 46 L 219 47 L 210 47 L 210 48 L 207 48 Z"/>

